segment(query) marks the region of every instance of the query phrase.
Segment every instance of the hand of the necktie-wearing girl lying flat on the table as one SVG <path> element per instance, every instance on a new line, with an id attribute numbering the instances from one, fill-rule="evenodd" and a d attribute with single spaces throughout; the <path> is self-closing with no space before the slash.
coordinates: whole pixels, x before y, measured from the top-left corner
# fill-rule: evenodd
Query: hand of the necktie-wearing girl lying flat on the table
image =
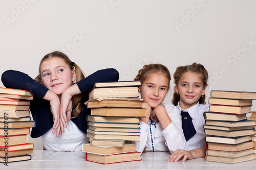
<path id="1" fill-rule="evenodd" d="M 176 150 L 175 152 L 170 155 L 170 157 L 167 159 L 169 162 L 177 162 L 178 160 L 182 159 L 182 162 L 184 162 L 186 159 L 193 159 L 194 156 L 191 152 L 185 151 L 185 150 Z"/>

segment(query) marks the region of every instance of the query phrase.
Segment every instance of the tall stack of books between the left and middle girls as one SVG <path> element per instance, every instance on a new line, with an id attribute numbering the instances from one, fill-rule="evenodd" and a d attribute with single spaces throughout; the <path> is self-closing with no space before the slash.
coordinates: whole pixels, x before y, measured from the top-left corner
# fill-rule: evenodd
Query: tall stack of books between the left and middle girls
<path id="1" fill-rule="evenodd" d="M 95 83 L 86 103 L 91 108 L 87 116 L 87 136 L 83 144 L 86 160 L 109 164 L 141 160 L 135 144 L 139 141 L 139 118 L 145 117 L 138 87 L 140 81 Z"/>

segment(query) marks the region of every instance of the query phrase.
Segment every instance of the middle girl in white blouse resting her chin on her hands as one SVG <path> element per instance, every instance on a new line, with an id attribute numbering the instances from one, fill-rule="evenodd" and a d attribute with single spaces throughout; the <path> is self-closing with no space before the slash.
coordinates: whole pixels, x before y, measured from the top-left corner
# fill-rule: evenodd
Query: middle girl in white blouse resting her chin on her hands
<path id="1" fill-rule="evenodd" d="M 135 80 L 141 80 L 141 107 L 146 108 L 146 117 L 139 118 L 140 142 L 134 142 L 137 151 L 186 150 L 179 109 L 173 104 L 162 104 L 169 90 L 169 70 L 162 64 L 144 65 Z"/>

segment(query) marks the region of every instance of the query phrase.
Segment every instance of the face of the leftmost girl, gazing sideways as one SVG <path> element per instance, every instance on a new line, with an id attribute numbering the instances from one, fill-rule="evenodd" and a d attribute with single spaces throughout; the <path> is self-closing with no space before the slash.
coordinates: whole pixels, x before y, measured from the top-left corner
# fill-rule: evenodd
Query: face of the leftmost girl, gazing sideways
<path id="1" fill-rule="evenodd" d="M 70 70 L 69 65 L 58 57 L 42 62 L 40 74 L 41 83 L 57 95 L 70 87 L 76 78 L 75 70 Z"/>

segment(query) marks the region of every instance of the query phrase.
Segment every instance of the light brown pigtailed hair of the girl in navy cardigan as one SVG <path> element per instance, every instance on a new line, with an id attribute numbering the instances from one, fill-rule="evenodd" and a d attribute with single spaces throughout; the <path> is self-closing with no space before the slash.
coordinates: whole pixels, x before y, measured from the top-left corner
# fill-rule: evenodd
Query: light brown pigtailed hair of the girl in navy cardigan
<path id="1" fill-rule="evenodd" d="M 58 58 L 62 59 L 66 64 L 68 64 L 71 71 L 73 69 L 75 69 L 76 82 L 79 82 L 80 80 L 85 78 L 83 71 L 80 69 L 80 67 L 77 64 L 75 64 L 74 62 L 72 62 L 66 54 L 55 51 L 55 52 L 47 54 L 45 57 L 42 58 L 42 60 L 39 64 L 39 75 L 34 79 L 36 82 L 41 83 L 41 80 L 42 80 L 41 74 L 40 74 L 40 68 L 41 68 L 42 62 L 49 60 L 51 58 L 54 58 L 54 57 L 58 57 Z M 78 117 L 78 115 L 82 111 L 81 103 L 80 103 L 81 99 L 82 99 L 82 94 L 76 94 L 76 95 L 72 96 L 72 104 L 73 104 L 73 107 L 75 107 L 75 109 L 73 110 L 73 114 L 74 114 L 73 118 Z"/>

